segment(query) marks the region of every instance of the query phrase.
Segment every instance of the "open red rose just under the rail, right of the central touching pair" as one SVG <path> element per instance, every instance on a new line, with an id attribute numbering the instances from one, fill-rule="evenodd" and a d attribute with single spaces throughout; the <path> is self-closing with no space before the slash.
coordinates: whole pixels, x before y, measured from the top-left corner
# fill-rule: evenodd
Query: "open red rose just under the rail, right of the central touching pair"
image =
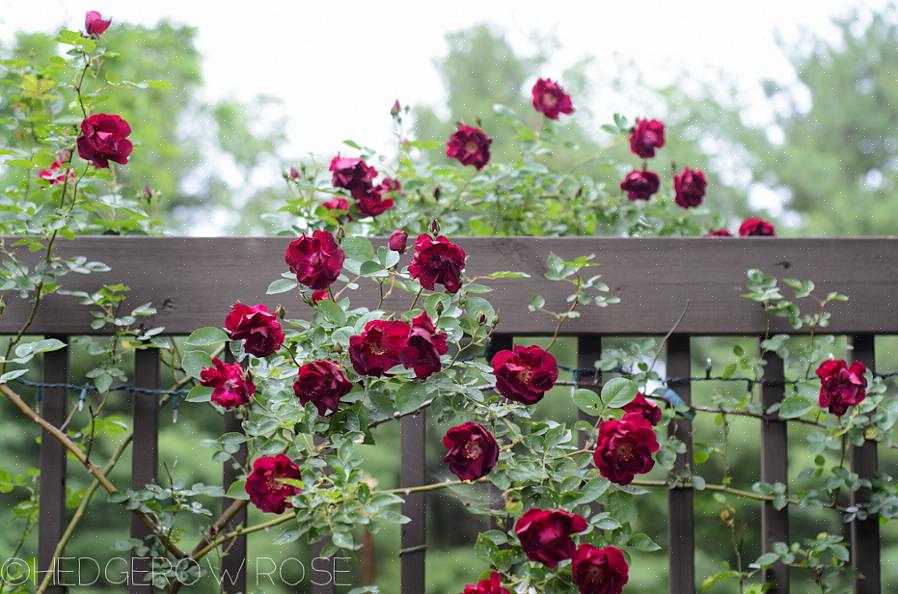
<path id="1" fill-rule="evenodd" d="M 515 402 L 536 404 L 558 379 L 558 363 L 542 347 L 515 346 L 493 356 L 496 390 Z"/>

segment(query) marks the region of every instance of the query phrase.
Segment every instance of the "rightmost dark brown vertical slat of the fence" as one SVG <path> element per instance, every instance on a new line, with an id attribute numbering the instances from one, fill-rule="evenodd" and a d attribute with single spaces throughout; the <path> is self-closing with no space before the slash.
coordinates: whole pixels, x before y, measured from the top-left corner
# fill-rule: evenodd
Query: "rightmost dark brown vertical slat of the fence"
<path id="1" fill-rule="evenodd" d="M 852 337 L 853 359 L 861 361 L 868 369 L 876 369 L 875 336 L 862 334 Z M 872 479 L 878 464 L 876 442 L 867 441 L 861 447 L 851 448 L 851 470 L 861 478 Z M 852 505 L 864 503 L 870 497 L 868 489 L 851 494 Z M 879 518 L 868 517 L 851 523 L 851 559 L 861 573 L 854 579 L 856 594 L 880 594 L 882 584 L 879 560 Z"/>

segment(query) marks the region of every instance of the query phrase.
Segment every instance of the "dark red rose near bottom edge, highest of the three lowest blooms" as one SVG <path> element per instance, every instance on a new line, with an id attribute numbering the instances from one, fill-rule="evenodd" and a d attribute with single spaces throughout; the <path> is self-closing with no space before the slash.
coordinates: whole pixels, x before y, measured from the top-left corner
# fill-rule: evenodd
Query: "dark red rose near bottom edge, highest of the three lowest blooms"
<path id="1" fill-rule="evenodd" d="M 533 508 L 521 516 L 514 532 L 531 561 L 555 567 L 574 556 L 576 547 L 571 534 L 586 530 L 586 520 L 563 509 Z"/>

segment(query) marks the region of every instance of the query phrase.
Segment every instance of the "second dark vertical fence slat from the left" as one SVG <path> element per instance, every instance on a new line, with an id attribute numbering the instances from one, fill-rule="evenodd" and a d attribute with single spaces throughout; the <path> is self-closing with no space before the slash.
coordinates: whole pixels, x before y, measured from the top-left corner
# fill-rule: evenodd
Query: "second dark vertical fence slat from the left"
<path id="1" fill-rule="evenodd" d="M 134 385 L 139 388 L 159 387 L 159 351 L 144 349 L 134 354 Z M 131 444 L 131 488 L 143 489 L 156 481 L 156 467 L 159 461 L 159 396 L 156 394 L 133 395 L 134 442 Z M 149 529 L 136 517 L 131 517 L 131 538 L 143 539 Z M 153 588 L 144 583 L 150 570 L 147 557 L 137 557 L 132 553 L 131 583 L 132 594 L 149 594 Z"/>

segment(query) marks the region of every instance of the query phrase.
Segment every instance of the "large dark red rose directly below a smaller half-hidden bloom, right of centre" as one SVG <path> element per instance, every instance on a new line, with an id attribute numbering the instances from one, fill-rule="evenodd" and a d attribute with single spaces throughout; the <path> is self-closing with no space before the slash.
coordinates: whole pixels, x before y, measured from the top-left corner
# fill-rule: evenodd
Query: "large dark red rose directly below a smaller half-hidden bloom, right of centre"
<path id="1" fill-rule="evenodd" d="M 659 449 L 658 438 L 640 412 L 628 412 L 620 419 L 599 424 L 599 440 L 593 461 L 606 479 L 629 485 L 637 474 L 655 466 L 652 454 Z"/>

